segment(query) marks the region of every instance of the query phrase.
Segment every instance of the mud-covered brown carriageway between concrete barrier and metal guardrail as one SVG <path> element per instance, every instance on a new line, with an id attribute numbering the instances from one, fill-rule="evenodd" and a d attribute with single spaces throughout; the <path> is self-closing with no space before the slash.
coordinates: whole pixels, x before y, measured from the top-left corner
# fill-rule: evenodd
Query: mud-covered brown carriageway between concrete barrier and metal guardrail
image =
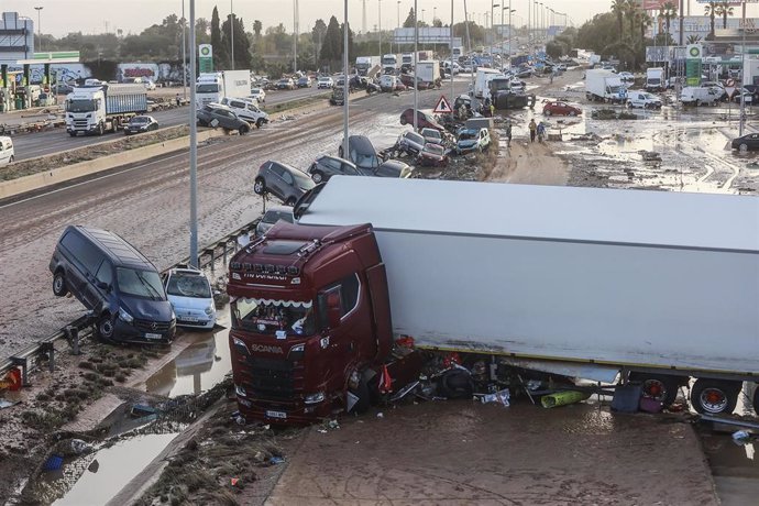
<path id="1" fill-rule="evenodd" d="M 440 94 L 420 92 L 420 107 L 431 109 Z M 377 147 L 384 147 L 404 130 L 398 114 L 413 103 L 411 92 L 358 97 L 350 106 L 351 131 L 371 135 L 377 139 Z M 277 121 L 271 129 L 254 130 L 250 135 L 217 138 L 201 144 L 199 243 L 218 240 L 261 215 L 263 201 L 253 194 L 252 184 L 266 160 L 305 169 L 317 155 L 337 153 L 341 138 L 342 108 L 324 108 Z M 32 198 L 0 201 L 0 293 L 7 294 L 0 300 L 0 355 L 9 356 L 85 312 L 78 301 L 57 298 L 51 288 L 50 255 L 66 224 L 120 233 L 158 268 L 186 257 L 188 180 L 188 153 L 178 152 L 116 167 Z"/>

